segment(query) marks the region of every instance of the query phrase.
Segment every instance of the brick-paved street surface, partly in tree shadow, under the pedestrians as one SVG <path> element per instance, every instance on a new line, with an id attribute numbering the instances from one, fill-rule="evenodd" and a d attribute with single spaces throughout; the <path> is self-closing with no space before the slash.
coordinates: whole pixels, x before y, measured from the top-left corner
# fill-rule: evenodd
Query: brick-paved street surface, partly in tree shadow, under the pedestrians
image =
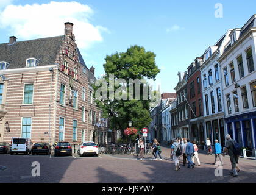
<path id="1" fill-rule="evenodd" d="M 199 154 L 201 166 L 188 169 L 181 166 L 174 171 L 174 162 L 169 160 L 170 149 L 162 147 L 166 159 L 152 161 L 146 156 L 139 161 L 136 155 L 105 155 L 99 157 L 49 157 L 49 155 L 1 155 L 0 171 L 2 182 L 82 182 L 82 183 L 244 183 L 256 182 L 256 160 L 240 158 L 241 172 L 238 178 L 229 176 L 229 157 L 224 157 L 223 177 L 216 177 L 212 165 L 214 155 Z M 76 157 L 76 158 L 75 158 Z M 33 161 L 40 163 L 40 177 L 31 177 Z M 182 161 L 182 158 L 181 158 Z"/>

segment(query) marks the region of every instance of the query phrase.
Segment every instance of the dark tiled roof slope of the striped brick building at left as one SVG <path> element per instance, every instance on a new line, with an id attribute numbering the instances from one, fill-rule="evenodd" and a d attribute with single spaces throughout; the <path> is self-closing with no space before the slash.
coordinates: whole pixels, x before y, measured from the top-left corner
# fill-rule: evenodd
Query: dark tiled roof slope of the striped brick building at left
<path id="1" fill-rule="evenodd" d="M 0 44 L 0 61 L 10 63 L 9 69 L 24 68 L 26 59 L 35 58 L 37 66 L 55 64 L 64 36 Z"/>

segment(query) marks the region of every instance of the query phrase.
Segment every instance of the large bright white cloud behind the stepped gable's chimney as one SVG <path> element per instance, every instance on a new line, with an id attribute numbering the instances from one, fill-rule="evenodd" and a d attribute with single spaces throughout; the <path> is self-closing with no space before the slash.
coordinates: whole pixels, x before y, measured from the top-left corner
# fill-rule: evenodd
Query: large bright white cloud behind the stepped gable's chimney
<path id="1" fill-rule="evenodd" d="M 110 33 L 107 28 L 90 23 L 93 13 L 91 7 L 75 1 L 8 5 L 0 12 L 0 28 L 9 30 L 10 35 L 20 40 L 29 40 L 63 35 L 64 23 L 68 21 L 74 24 L 77 45 L 85 49 L 103 41 L 101 32 Z"/>

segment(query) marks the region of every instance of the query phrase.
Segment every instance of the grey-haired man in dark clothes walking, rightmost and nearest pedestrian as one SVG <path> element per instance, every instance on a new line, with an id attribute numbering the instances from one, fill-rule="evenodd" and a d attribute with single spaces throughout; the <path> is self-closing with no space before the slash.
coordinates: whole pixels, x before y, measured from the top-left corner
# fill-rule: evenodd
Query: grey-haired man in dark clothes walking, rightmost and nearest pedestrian
<path id="1" fill-rule="evenodd" d="M 228 152 L 230 162 L 232 165 L 232 170 L 230 171 L 230 174 L 233 175 L 233 177 L 238 177 L 238 173 L 236 171 L 236 162 L 238 162 L 238 155 L 234 154 L 234 144 L 235 140 L 231 139 L 231 136 L 229 134 L 226 135 L 226 143 L 225 143 L 225 150 L 223 152 L 223 157 Z"/>

